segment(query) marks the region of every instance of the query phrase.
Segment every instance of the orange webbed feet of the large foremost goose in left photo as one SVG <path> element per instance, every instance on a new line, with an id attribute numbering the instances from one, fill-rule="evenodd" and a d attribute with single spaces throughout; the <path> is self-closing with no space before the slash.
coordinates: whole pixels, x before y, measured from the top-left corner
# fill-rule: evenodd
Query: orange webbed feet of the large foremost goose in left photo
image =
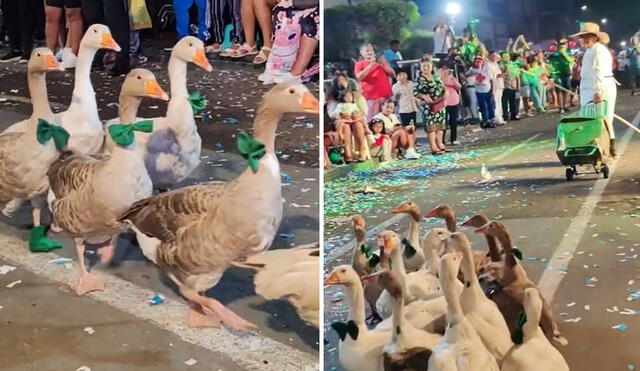
<path id="1" fill-rule="evenodd" d="M 195 320 L 194 322 L 191 322 L 190 325 L 197 325 L 197 321 L 202 320 L 198 315 L 205 315 L 210 317 L 207 321 L 210 324 L 215 323 L 217 320 L 219 322 L 224 322 L 227 326 L 236 330 L 252 330 L 256 328 L 255 325 L 242 319 L 240 316 L 222 305 L 219 301 L 204 297 L 184 284 L 180 284 L 178 288 L 180 289 L 182 296 L 189 300 L 189 302 L 193 303 L 196 307 L 195 309 L 192 307 L 189 311 L 187 320 Z M 196 305 L 198 305 L 199 308 Z"/>

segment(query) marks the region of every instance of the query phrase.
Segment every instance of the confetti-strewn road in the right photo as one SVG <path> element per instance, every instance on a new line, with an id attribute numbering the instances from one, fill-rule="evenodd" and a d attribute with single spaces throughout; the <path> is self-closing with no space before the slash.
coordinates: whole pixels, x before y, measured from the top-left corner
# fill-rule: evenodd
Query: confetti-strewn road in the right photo
<path id="1" fill-rule="evenodd" d="M 621 92 L 618 114 L 635 118 L 638 125 L 639 108 L 640 98 Z M 560 351 L 571 369 L 640 368 L 634 346 L 640 338 L 640 306 L 632 295 L 640 288 L 640 137 L 616 124 L 619 152 L 624 152 L 612 165 L 611 179 L 584 175 L 567 182 L 554 151 L 558 118 L 548 114 L 468 133 L 462 148 L 437 162 L 428 157 L 329 181 L 325 273 L 349 260 L 349 218 L 354 214 L 363 215 L 368 228 L 382 225 L 406 233 L 408 220 L 388 212 L 405 200 L 417 202 L 423 212 L 451 204 L 459 219 L 482 212 L 508 227 L 534 282 L 545 272 L 542 290 L 552 298 L 569 340 Z M 478 184 L 482 164 L 500 180 Z M 357 193 L 365 184 L 385 194 Z M 444 225 L 423 222 L 423 230 L 431 226 Z M 467 234 L 476 248 L 485 246 L 479 236 Z M 343 303 L 332 303 L 339 298 L 336 291 L 331 287 L 325 293 L 327 323 L 346 317 Z M 339 369 L 336 336 L 325 329 L 325 369 Z"/>

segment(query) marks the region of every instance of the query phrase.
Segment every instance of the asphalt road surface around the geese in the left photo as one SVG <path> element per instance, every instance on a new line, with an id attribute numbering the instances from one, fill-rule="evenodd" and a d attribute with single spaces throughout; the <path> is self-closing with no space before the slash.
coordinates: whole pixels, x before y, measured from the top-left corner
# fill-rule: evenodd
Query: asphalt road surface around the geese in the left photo
<path id="1" fill-rule="evenodd" d="M 16 71 L 22 68 L 23 65 L 5 65 L 0 71 L 0 130 L 30 114 L 25 84 L 15 78 Z M 214 82 L 195 73 L 198 74 L 197 88 L 208 95 L 209 107 L 214 108 L 209 120 L 216 123 L 198 120 L 204 147 L 201 165 L 184 185 L 231 179 L 243 170 L 244 161 L 231 148 L 230 143 L 234 141 L 231 134 L 251 128 L 253 114 L 245 115 L 243 110 L 255 112 L 259 96 L 266 91 L 253 82 L 256 70 L 243 71 L 224 63 L 216 64 L 216 68 Z M 166 79 L 160 66 L 154 65 L 153 69 L 161 81 Z M 118 80 L 109 80 L 97 72 L 94 75 L 101 116 L 113 117 L 116 107 L 112 103 L 117 101 L 117 93 L 113 91 L 119 88 Z M 69 100 L 69 81 L 72 81 L 69 77 L 52 78 L 54 87 L 49 87 L 50 99 L 56 107 L 64 107 Z M 225 78 L 229 86 L 223 90 Z M 247 82 L 235 84 L 235 79 Z M 252 89 L 245 94 L 243 89 L 249 85 Z M 232 102 L 234 96 L 236 101 Z M 142 116 L 164 112 L 162 106 L 149 108 L 148 102 L 143 102 L 143 106 Z M 235 117 L 239 122 L 230 125 L 231 130 L 220 126 L 223 124 L 217 123 L 217 117 Z M 215 128 L 222 132 L 219 137 L 214 135 Z M 319 172 L 317 155 L 309 154 L 315 151 L 314 146 L 317 148 L 317 128 L 317 118 L 291 116 L 279 131 L 276 145 L 286 147 L 281 153 L 284 159 L 281 171 L 287 183 L 283 186 L 284 219 L 279 233 L 286 237 L 278 237 L 274 248 L 319 239 Z M 215 142 L 221 142 L 223 150 L 207 149 L 213 149 Z M 301 146 L 303 142 L 305 146 Z M 93 270 L 107 277 L 107 289 L 77 298 L 68 286 L 77 277 L 71 240 L 57 236 L 64 243 L 63 249 L 30 254 L 25 244 L 30 223 L 30 208 L 26 206 L 10 220 L 0 217 L 0 266 L 17 267 L 0 275 L 0 369 L 75 370 L 82 365 L 92 370 L 319 367 L 317 329 L 301 321 L 288 302 L 266 302 L 257 296 L 253 291 L 253 274 L 248 271 L 228 270 L 207 294 L 255 323 L 259 328 L 256 333 L 187 329 L 184 300 L 127 239 L 118 240 L 110 266 L 101 265 L 88 255 Z M 49 263 L 58 257 L 73 259 L 71 269 Z M 6 287 L 16 280 L 22 283 Z M 166 302 L 150 306 L 148 301 L 155 294 L 164 295 Z M 85 327 L 93 327 L 95 333 L 83 332 Z M 190 358 L 198 363 L 186 365 L 184 362 Z"/>

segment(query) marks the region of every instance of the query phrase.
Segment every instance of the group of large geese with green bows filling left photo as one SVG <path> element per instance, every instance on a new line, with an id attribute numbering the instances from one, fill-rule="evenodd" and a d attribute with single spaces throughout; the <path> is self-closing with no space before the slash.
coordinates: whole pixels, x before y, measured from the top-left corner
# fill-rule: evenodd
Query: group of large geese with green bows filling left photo
<path id="1" fill-rule="evenodd" d="M 193 63 L 212 71 L 203 42 L 187 36 L 173 48 L 168 65 L 170 98 L 151 71 L 132 70 L 122 84 L 118 117 L 104 123 L 90 78 L 99 49 L 119 51 L 120 46 L 107 26 L 94 24 L 80 43 L 71 104 L 55 114 L 45 75 L 63 67 L 50 50 L 35 49 L 27 67 L 33 114 L 0 134 L 0 207 L 11 217 L 24 202 L 31 203 L 31 251 L 61 247 L 46 238 L 46 226 L 41 225 L 41 213 L 48 208 L 52 230 L 74 240 L 79 268 L 76 292 L 84 295 L 107 289 L 105 280 L 90 273 L 84 263 L 86 244 L 101 245 L 100 260 L 109 262 L 118 235 L 130 229 L 143 254 L 189 301 L 190 326 L 224 323 L 238 330 L 254 328 L 203 295 L 234 264 L 258 270 L 259 294 L 288 298 L 303 319 L 317 326 L 317 248 L 265 252 L 282 219 L 275 150 L 278 122 L 289 112 L 317 114 L 317 99 L 303 85 L 275 86 L 257 110 L 253 136 L 238 135 L 238 150 L 247 168 L 228 182 L 179 188 L 200 160 L 201 139 L 192 105 L 202 101 L 187 91 L 187 66 Z M 165 116 L 138 118 L 143 98 L 168 101 Z M 273 264 L 274 259 L 279 264 Z M 314 288 L 307 287 L 314 286 L 312 277 L 304 287 L 280 291 L 269 291 L 260 283 L 266 276 L 290 286 L 309 272 L 316 273 L 315 312 Z"/>

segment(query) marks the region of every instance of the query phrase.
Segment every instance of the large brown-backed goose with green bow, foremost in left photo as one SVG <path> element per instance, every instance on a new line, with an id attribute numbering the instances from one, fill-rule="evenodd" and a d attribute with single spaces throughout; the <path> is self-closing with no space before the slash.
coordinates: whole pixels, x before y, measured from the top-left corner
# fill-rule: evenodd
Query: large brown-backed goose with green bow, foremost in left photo
<path id="1" fill-rule="evenodd" d="M 141 200 L 120 218 L 136 232 L 145 256 L 169 275 L 192 304 L 191 326 L 217 326 L 222 321 L 240 330 L 254 327 L 200 293 L 215 286 L 232 262 L 259 253 L 273 242 L 282 219 L 275 135 L 287 112 L 317 114 L 318 101 L 303 85 L 275 86 L 258 109 L 255 139 L 245 137 L 244 144 L 239 141 L 250 166 L 236 179 Z"/>

